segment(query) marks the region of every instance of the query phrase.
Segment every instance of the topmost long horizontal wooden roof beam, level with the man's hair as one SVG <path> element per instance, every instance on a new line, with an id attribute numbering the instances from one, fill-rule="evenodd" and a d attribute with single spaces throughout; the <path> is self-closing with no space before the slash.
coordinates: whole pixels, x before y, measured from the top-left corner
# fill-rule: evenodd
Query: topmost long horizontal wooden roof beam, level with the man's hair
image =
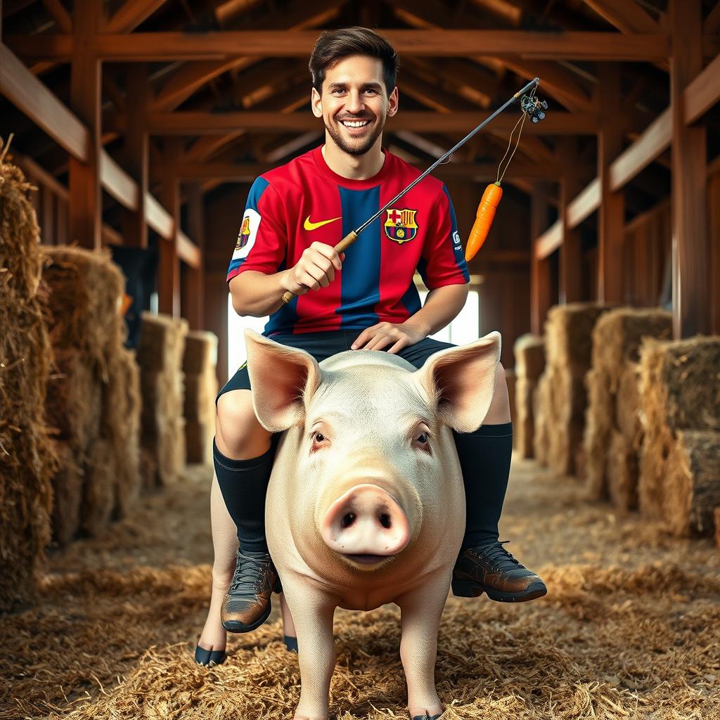
<path id="1" fill-rule="evenodd" d="M 482 48 L 499 58 L 546 60 L 664 60 L 667 35 L 621 35 L 614 32 L 525 32 L 523 30 L 395 30 L 381 28 L 400 55 L 474 57 Z M 116 62 L 220 60 L 256 57 L 306 58 L 318 39 L 315 30 L 238 30 L 228 32 L 138 32 L 96 38 L 99 58 Z M 6 37 L 22 58 L 68 60 L 71 35 L 45 35 L 42 42 L 24 35 Z M 703 37 L 703 51 L 716 55 L 720 40 Z"/>

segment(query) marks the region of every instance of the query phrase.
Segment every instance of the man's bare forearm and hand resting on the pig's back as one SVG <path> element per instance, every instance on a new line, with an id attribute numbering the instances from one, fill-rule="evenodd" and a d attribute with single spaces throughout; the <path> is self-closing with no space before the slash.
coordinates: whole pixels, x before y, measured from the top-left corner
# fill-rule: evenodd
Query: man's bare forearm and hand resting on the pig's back
<path id="1" fill-rule="evenodd" d="M 469 284 L 444 285 L 428 293 L 425 305 L 399 325 L 378 323 L 363 330 L 352 344 L 353 350 L 382 350 L 397 353 L 424 340 L 449 325 L 465 305 Z"/>

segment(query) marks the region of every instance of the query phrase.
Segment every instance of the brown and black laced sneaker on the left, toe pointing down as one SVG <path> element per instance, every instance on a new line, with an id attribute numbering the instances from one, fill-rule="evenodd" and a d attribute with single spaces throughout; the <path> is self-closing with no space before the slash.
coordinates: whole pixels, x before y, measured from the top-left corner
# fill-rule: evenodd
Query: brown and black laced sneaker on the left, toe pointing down
<path id="1" fill-rule="evenodd" d="M 220 620 L 228 632 L 249 632 L 260 627 L 271 611 L 270 595 L 280 592 L 280 581 L 269 554 L 251 557 L 238 550 L 235 574 L 222 599 Z"/>

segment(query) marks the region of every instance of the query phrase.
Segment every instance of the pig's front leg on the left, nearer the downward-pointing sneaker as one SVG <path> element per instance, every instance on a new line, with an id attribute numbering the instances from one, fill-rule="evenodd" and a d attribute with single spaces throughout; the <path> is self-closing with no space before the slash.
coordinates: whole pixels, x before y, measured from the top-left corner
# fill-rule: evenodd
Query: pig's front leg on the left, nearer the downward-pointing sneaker
<path id="1" fill-rule="evenodd" d="M 295 720 L 328 720 L 330 678 L 336 661 L 333 638 L 336 603 L 314 593 L 305 583 L 296 586 L 292 582 L 283 588 L 297 630 L 300 662 L 300 702 Z"/>

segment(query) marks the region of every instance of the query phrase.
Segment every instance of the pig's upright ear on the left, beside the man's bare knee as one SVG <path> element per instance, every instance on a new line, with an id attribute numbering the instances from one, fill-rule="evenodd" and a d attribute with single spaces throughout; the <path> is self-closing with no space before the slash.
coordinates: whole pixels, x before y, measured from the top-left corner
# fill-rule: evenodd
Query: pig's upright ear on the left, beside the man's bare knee
<path id="1" fill-rule="evenodd" d="M 279 433 L 305 419 L 305 402 L 320 384 L 320 367 L 310 354 L 245 331 L 253 405 L 260 424 Z"/>

